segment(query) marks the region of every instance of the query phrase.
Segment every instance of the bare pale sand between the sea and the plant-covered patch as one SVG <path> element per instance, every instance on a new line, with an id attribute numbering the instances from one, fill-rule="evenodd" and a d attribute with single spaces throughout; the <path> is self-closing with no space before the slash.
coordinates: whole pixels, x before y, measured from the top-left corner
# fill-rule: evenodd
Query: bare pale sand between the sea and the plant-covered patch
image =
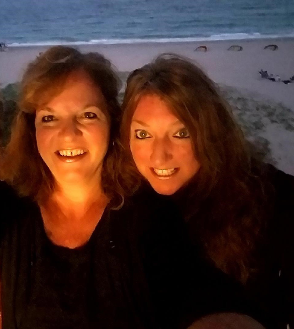
<path id="1" fill-rule="evenodd" d="M 277 44 L 276 51 L 263 50 L 268 44 Z M 231 45 L 240 45 L 243 51 L 228 51 Z M 207 52 L 194 51 L 198 46 L 208 47 Z M 294 109 L 294 84 L 272 83 L 258 75 L 262 68 L 282 80 L 294 75 L 294 38 L 247 39 L 204 42 L 165 42 L 110 45 L 78 45 L 82 51 L 104 54 L 119 71 L 131 71 L 164 52 L 186 56 L 198 63 L 216 83 L 260 94 L 265 100 L 282 102 Z M 0 52 L 0 82 L 3 85 L 18 81 L 26 64 L 48 47 L 11 47 Z"/>

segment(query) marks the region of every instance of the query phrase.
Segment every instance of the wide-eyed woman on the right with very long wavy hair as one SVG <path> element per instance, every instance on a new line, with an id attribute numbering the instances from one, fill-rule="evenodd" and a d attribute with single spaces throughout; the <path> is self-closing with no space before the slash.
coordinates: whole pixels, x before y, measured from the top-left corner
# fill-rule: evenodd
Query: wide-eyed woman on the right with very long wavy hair
<path id="1" fill-rule="evenodd" d="M 121 162 L 138 189 L 182 209 L 195 250 L 244 286 L 269 328 L 294 328 L 294 177 L 251 158 L 214 83 L 176 55 L 130 73 L 122 110 Z"/>

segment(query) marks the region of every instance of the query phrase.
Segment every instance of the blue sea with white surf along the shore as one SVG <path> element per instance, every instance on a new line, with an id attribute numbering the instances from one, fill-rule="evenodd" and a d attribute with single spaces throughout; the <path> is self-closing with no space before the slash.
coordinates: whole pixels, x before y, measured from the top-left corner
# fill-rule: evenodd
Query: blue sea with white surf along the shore
<path id="1" fill-rule="evenodd" d="M 0 0 L 11 46 L 294 37 L 294 0 Z"/>

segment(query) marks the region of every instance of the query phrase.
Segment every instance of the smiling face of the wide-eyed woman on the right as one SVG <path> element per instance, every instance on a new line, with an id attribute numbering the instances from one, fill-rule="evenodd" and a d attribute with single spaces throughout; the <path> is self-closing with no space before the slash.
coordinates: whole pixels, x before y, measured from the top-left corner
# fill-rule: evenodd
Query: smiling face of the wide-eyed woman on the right
<path id="1" fill-rule="evenodd" d="M 130 148 L 137 169 L 160 194 L 175 193 L 200 168 L 189 132 L 157 95 L 139 100 L 131 123 Z"/>

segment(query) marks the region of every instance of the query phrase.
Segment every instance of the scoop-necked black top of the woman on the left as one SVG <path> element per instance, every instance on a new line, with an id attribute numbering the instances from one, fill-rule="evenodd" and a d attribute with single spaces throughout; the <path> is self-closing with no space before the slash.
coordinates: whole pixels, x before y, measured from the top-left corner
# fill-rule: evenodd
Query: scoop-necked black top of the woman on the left
<path id="1" fill-rule="evenodd" d="M 202 263 L 168 198 L 141 191 L 106 208 L 86 245 L 46 236 L 40 210 L 0 182 L 3 328 L 186 328 L 221 311 L 262 316 Z M 193 259 L 193 261 L 191 261 Z"/>

